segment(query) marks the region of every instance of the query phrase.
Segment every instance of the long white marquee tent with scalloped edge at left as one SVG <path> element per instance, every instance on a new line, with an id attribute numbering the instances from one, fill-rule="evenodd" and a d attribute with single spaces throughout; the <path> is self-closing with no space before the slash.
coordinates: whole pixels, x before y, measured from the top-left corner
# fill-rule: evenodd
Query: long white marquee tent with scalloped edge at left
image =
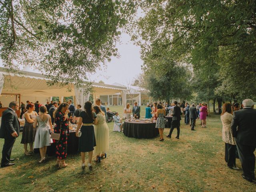
<path id="1" fill-rule="evenodd" d="M 19 94 L 20 101 L 31 100 L 35 102 L 38 100 L 42 104 L 45 104 L 46 100 L 50 100 L 52 96 L 59 96 L 61 101 L 63 101 L 63 97 L 73 96 L 75 104 L 84 104 L 89 100 L 90 94 L 84 95 L 83 88 L 76 88 L 74 84 L 70 83 L 63 87 L 58 85 L 48 86 L 48 79 L 42 74 L 26 71 L 19 72 L 20 74 L 9 74 L 4 68 L 0 67 L 0 94 Z M 126 97 L 126 94 L 124 94 L 126 87 L 123 86 L 93 82 L 92 87 L 94 89 L 92 93 L 94 100 L 99 98 L 100 95 L 115 94 L 116 92 L 120 92 L 122 96 Z M 68 89 L 71 91 L 68 91 Z M 4 97 L 1 100 L 4 100 Z M 123 105 L 125 106 L 126 103 L 124 102 Z"/>

